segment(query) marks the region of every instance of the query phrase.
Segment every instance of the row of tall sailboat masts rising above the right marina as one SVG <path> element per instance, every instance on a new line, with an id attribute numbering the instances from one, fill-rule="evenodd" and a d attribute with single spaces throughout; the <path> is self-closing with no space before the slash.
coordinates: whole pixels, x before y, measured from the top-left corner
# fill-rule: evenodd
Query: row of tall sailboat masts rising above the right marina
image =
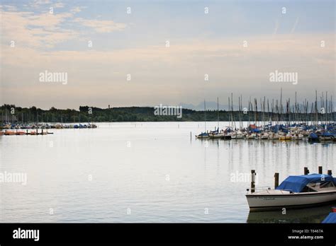
<path id="1" fill-rule="evenodd" d="M 266 124 L 330 124 L 335 122 L 335 110 L 332 102 L 332 95 L 328 100 L 327 91 L 322 93 L 318 100 L 318 91 L 315 90 L 315 102 L 309 102 L 306 98 L 302 102 L 297 100 L 297 92 L 295 92 L 295 101 L 291 104 L 291 98 L 283 102 L 282 88 L 280 98 L 257 98 L 248 100 L 248 106 L 243 108 L 242 95 L 238 97 L 237 110 L 233 107 L 233 93 L 228 97 L 228 113 L 230 127 L 234 129 L 242 129 L 243 118 L 246 121 L 247 115 L 248 125 L 254 124 L 261 127 Z M 320 101 L 320 102 L 319 102 Z M 318 104 L 320 104 L 318 107 Z M 217 121 L 219 128 L 219 100 L 217 98 Z M 206 122 L 206 100 L 204 100 L 204 121 Z M 239 122 L 239 125 L 237 125 Z M 206 132 L 206 123 L 205 123 Z"/>

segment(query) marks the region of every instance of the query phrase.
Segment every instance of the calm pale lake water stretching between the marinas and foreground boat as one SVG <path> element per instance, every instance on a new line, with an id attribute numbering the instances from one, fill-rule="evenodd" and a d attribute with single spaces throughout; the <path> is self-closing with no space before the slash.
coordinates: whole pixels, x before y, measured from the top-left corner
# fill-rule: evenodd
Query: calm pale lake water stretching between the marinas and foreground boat
<path id="1" fill-rule="evenodd" d="M 250 180 L 234 177 L 254 169 L 257 187 L 272 187 L 274 172 L 336 172 L 335 144 L 195 139 L 204 122 L 98 125 L 0 136 L 0 171 L 27 175 L 26 185 L 0 183 L 0 222 L 320 223 L 330 212 L 249 213 Z"/>

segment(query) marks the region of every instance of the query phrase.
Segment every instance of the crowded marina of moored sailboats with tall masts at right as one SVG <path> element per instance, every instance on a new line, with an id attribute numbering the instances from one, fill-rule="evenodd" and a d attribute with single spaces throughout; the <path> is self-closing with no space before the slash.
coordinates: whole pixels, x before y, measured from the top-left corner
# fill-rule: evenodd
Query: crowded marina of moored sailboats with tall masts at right
<path id="1" fill-rule="evenodd" d="M 302 104 L 286 100 L 286 107 L 282 102 L 282 89 L 279 100 L 260 98 L 258 110 L 257 98 L 250 98 L 248 108 L 242 107 L 242 95 L 239 96 L 238 106 L 234 110 L 233 94 L 228 98 L 228 117 L 230 124 L 220 129 L 220 112 L 217 98 L 217 127 L 214 130 L 206 129 L 206 101 L 204 100 L 204 131 L 196 135 L 196 139 L 257 139 L 280 141 L 336 141 L 335 112 L 332 105 L 332 96 L 328 102 L 327 92 L 322 93 L 320 103 L 318 92 L 315 91 L 315 102 L 309 110 L 309 102 Z M 286 108 L 286 109 L 285 109 Z M 239 119 L 239 122 L 236 120 Z M 247 127 L 243 127 L 247 123 Z"/>

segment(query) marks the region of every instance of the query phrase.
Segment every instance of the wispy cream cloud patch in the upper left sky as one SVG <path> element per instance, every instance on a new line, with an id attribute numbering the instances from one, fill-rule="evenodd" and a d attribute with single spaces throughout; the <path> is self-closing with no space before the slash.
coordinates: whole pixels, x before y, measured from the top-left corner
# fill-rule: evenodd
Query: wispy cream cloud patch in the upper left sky
<path id="1" fill-rule="evenodd" d="M 50 4 L 49 1 L 35 1 L 40 4 Z M 62 8 L 62 3 L 52 4 L 55 8 Z M 74 25 L 72 29 L 64 28 L 64 23 L 76 23 L 77 25 L 92 28 L 96 33 L 111 33 L 123 30 L 124 23 L 114 21 L 97 21 L 85 18 L 75 18 L 75 15 L 86 8 L 77 6 L 68 12 L 60 13 L 35 13 L 33 11 L 16 11 L 16 8 L 1 6 L 0 15 L 2 19 L 1 36 L 2 40 L 9 44 L 12 40 L 22 46 L 38 48 L 50 48 L 55 45 L 72 40 L 81 36 Z M 48 8 L 49 9 L 49 8 Z"/>

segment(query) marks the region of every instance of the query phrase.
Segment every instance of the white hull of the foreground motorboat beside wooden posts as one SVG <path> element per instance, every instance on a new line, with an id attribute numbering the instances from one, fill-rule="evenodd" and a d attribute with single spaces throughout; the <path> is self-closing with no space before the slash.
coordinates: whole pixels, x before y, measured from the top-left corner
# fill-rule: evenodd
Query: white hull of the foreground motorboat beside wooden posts
<path id="1" fill-rule="evenodd" d="M 317 206 L 336 201 L 336 190 L 327 192 L 289 192 L 279 194 L 247 194 L 250 211 Z"/>

